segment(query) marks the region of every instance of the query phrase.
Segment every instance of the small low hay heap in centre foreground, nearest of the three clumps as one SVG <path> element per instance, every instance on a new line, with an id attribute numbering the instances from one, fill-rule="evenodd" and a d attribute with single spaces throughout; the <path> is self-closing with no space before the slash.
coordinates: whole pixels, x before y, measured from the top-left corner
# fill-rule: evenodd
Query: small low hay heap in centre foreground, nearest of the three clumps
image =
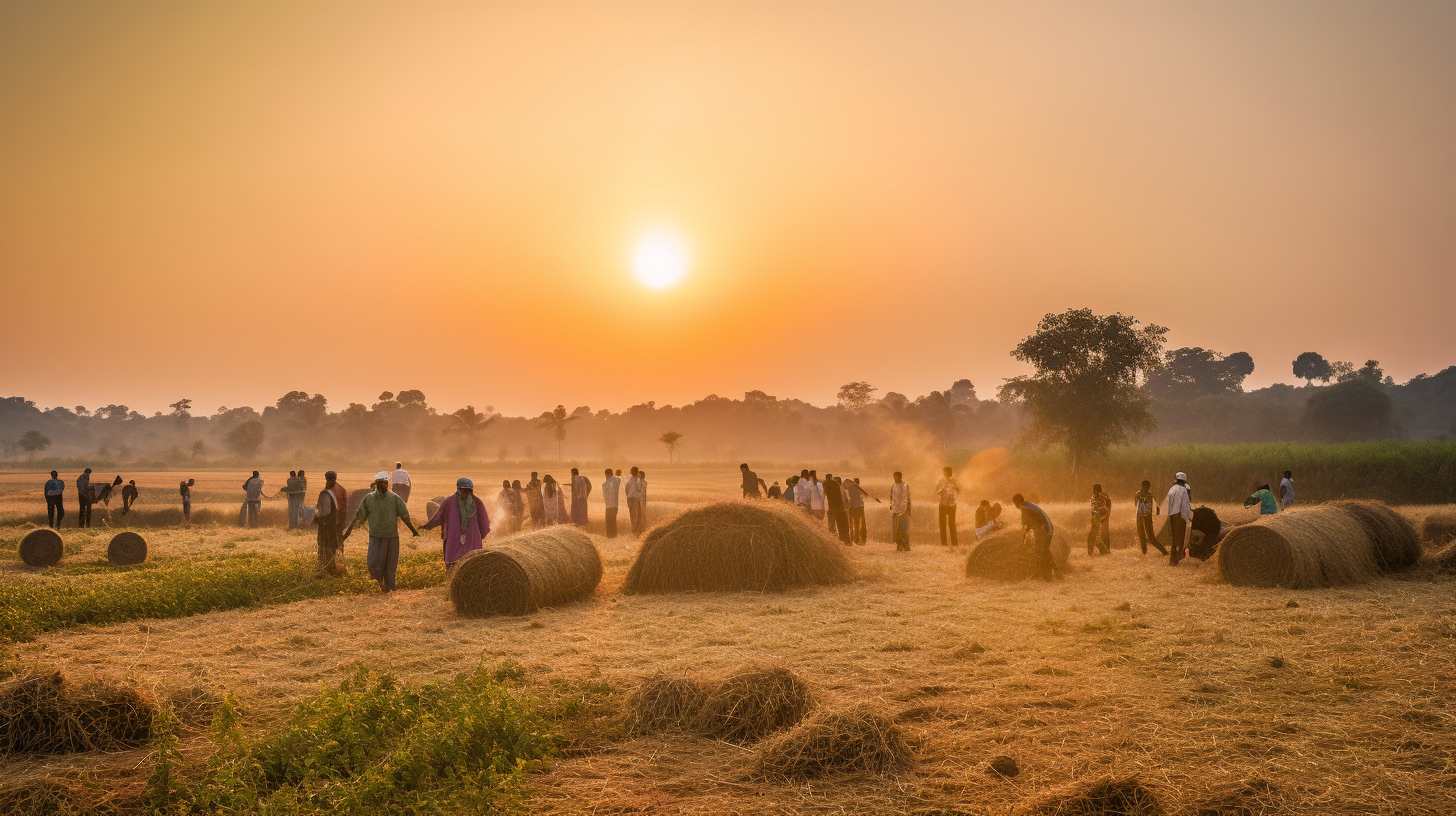
<path id="1" fill-rule="evenodd" d="M 890 775 L 910 766 L 900 726 L 865 707 L 821 711 L 759 749 L 756 771 L 769 780 L 828 774 Z"/>

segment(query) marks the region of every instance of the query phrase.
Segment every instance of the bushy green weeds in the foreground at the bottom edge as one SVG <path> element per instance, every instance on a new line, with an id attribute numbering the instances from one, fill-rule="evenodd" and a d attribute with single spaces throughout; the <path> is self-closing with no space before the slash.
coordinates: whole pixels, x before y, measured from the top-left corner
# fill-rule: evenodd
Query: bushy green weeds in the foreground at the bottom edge
<path id="1" fill-rule="evenodd" d="M 236 718 L 220 715 L 220 750 L 197 778 L 179 778 L 175 758 L 159 750 L 149 810 L 166 816 L 513 810 L 524 772 L 552 752 L 555 737 L 495 673 L 482 666 L 412 688 L 360 669 L 258 739 L 243 737 Z"/>

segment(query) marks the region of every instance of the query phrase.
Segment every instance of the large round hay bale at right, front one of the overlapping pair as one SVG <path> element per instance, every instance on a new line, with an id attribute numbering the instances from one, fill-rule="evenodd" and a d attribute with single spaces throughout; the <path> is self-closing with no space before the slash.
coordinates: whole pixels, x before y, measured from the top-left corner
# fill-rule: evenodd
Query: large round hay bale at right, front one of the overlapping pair
<path id="1" fill-rule="evenodd" d="M 1229 530 L 1219 545 L 1219 574 L 1236 586 L 1342 586 L 1379 571 L 1366 529 L 1340 507 L 1264 516 Z"/>

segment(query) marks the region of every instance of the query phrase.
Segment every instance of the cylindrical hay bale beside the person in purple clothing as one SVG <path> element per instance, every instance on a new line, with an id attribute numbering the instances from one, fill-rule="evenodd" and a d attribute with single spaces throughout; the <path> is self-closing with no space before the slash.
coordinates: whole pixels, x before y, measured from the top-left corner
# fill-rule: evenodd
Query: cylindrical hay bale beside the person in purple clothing
<path id="1" fill-rule="evenodd" d="M 572 527 L 511 536 L 454 565 L 450 600 L 469 616 L 526 615 L 578 600 L 601 583 L 601 557 L 591 538 Z"/>

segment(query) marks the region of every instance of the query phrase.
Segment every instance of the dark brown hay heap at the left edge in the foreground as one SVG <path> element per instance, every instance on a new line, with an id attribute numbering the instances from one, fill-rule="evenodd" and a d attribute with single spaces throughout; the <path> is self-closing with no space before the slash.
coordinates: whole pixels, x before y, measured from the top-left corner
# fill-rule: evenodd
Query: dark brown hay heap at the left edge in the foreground
<path id="1" fill-rule="evenodd" d="M 151 739 L 156 714 L 156 704 L 127 686 L 33 675 L 0 689 L 0 752 L 137 748 Z"/>

